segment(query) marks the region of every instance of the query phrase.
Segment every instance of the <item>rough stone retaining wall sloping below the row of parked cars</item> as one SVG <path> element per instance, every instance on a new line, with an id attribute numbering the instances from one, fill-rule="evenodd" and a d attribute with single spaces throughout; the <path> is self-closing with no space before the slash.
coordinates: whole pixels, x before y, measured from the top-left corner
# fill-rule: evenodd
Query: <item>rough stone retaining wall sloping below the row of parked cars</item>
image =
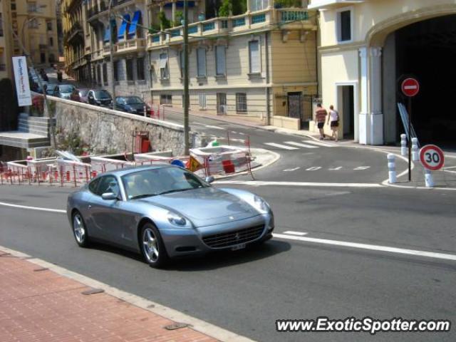
<path id="1" fill-rule="evenodd" d="M 51 108 L 55 103 L 58 145 L 76 134 L 93 153 L 130 152 L 136 129 L 149 133 L 153 150 L 172 150 L 174 155 L 184 152 L 182 125 L 60 98 L 49 97 L 49 100 L 53 103 Z M 190 138 L 195 141 L 195 134 L 191 133 Z"/>

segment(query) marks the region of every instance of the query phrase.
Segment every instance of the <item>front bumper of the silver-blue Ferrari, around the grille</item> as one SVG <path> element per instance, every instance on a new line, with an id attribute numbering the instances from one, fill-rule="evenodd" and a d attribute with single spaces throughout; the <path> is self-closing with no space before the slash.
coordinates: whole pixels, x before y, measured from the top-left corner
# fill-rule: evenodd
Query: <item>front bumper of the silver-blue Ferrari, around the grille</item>
<path id="1" fill-rule="evenodd" d="M 249 229 L 255 229 L 255 234 L 249 233 Z M 271 239 L 273 230 L 274 215 L 270 213 L 196 229 L 160 229 L 160 234 L 167 254 L 177 258 L 247 247 Z M 226 243 L 209 243 L 214 237 L 220 237 L 219 241 L 224 239 Z"/>

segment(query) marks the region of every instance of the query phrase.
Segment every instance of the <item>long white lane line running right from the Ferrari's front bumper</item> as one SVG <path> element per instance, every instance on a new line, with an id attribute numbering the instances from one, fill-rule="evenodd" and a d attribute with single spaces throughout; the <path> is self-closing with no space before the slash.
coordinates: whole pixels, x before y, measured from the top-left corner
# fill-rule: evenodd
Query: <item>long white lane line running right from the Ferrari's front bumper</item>
<path id="1" fill-rule="evenodd" d="M 352 248 L 358 248 L 358 249 L 369 249 L 371 251 L 390 252 L 390 253 L 413 255 L 415 257 L 426 257 L 426 258 L 432 258 L 432 259 L 443 259 L 443 260 L 456 261 L 456 254 L 425 252 L 425 251 L 418 251 L 415 249 L 403 249 L 403 248 L 397 248 L 397 247 L 378 246 L 375 244 L 358 244 L 356 242 L 345 242 L 345 241 L 328 240 L 328 239 L 316 239 L 313 237 L 294 237 L 292 235 L 284 235 L 284 234 L 276 234 L 276 233 L 274 233 L 273 236 L 277 237 L 279 239 L 291 239 L 291 240 L 297 240 L 297 241 L 303 241 L 303 242 L 313 242 L 316 244 L 330 244 L 333 246 L 352 247 Z"/>

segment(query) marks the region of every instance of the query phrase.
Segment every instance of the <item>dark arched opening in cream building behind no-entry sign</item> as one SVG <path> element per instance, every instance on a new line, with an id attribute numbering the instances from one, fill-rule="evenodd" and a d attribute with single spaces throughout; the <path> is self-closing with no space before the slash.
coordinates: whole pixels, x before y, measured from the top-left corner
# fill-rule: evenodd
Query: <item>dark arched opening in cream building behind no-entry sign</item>
<path id="1" fill-rule="evenodd" d="M 399 28 L 385 38 L 383 46 L 383 111 L 385 141 L 398 142 L 404 132 L 397 103 L 405 98 L 398 91 L 401 76 L 420 81 L 413 98 L 412 122 L 421 145 L 436 143 L 456 147 L 456 14 L 438 16 Z"/>

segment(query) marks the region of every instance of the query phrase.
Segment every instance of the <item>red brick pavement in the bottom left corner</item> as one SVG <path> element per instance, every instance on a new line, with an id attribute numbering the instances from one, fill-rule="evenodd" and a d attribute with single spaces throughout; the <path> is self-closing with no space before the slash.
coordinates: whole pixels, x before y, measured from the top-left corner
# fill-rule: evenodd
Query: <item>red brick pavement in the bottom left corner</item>
<path id="1" fill-rule="evenodd" d="M 0 252 L 0 342 L 206 342 L 173 321 Z"/>

